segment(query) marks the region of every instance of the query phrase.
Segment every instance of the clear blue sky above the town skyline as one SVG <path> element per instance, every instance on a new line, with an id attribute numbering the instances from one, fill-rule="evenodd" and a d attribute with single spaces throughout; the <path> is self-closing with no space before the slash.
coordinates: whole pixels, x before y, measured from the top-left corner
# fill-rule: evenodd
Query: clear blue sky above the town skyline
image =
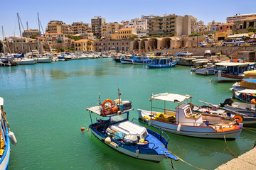
<path id="1" fill-rule="evenodd" d="M 250 1 L 201 1 L 201 0 L 0 0 L 0 26 L 4 26 L 4 35 L 18 34 L 17 14 L 21 17 L 23 26 L 28 22 L 28 28 L 37 28 L 37 13 L 39 13 L 43 28 L 48 21 L 59 20 L 71 24 L 83 21 L 90 23 L 94 16 L 106 18 L 106 22 L 140 18 L 143 14 L 163 16 L 164 13 L 183 16 L 192 15 L 203 21 L 225 23 L 227 16 L 236 13 L 256 13 L 255 0 Z M 0 39 L 2 40 L 2 31 Z"/>

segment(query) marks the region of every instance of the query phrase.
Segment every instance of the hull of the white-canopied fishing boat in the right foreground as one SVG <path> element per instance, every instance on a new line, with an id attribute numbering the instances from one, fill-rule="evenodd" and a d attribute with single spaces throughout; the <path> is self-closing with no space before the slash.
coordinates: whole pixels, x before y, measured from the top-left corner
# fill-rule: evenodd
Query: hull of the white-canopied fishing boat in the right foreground
<path id="1" fill-rule="evenodd" d="M 143 119 L 144 116 L 150 115 L 150 111 L 144 111 L 141 109 L 137 110 L 139 113 L 139 118 Z M 235 140 L 242 131 L 242 124 L 240 123 L 240 128 L 234 130 L 215 130 L 212 126 L 205 125 L 177 125 L 173 123 L 165 123 L 159 120 L 149 120 L 152 125 L 165 130 L 166 132 L 175 133 L 178 135 L 186 135 L 191 137 L 203 137 L 203 138 L 214 138 L 223 139 L 224 135 L 226 139 Z M 149 122 L 148 122 L 149 123 Z M 179 127 L 178 127 L 179 126 Z"/>

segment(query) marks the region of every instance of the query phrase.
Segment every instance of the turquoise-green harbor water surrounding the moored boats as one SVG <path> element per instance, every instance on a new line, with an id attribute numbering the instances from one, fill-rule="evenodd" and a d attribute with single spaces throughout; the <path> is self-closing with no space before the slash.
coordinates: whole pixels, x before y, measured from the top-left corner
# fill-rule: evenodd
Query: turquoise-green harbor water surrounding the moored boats
<path id="1" fill-rule="evenodd" d="M 208 81 L 213 77 L 191 74 L 189 67 L 146 69 L 142 65 L 112 62 L 112 59 L 73 60 L 50 64 L 0 67 L 0 96 L 6 118 L 18 141 L 11 146 L 9 169 L 171 169 L 168 159 L 161 163 L 127 157 L 103 145 L 91 132 L 87 107 L 117 98 L 137 108 L 150 109 L 151 91 L 190 94 L 199 100 L 220 103 L 232 96 L 233 83 Z M 93 117 L 95 119 L 95 117 Z M 169 150 L 202 169 L 215 169 L 233 159 L 224 140 L 207 140 L 168 133 Z M 228 146 L 235 155 L 252 149 L 256 135 L 242 130 Z M 176 169 L 194 169 L 174 162 Z"/>

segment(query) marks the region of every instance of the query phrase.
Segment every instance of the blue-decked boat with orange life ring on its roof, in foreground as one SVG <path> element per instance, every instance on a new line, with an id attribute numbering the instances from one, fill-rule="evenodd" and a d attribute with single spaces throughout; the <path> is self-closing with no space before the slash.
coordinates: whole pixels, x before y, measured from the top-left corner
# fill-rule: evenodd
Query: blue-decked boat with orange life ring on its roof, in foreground
<path id="1" fill-rule="evenodd" d="M 108 102 L 110 105 L 106 104 Z M 132 104 L 120 98 L 114 100 L 114 103 L 107 99 L 102 104 L 87 108 L 91 122 L 92 113 L 100 116 L 96 123 L 89 126 L 92 134 L 108 147 L 136 159 L 150 162 L 161 162 L 164 158 L 178 160 L 167 149 L 169 137 L 164 131 L 159 129 L 159 134 L 129 121 L 129 111 L 132 110 Z"/>

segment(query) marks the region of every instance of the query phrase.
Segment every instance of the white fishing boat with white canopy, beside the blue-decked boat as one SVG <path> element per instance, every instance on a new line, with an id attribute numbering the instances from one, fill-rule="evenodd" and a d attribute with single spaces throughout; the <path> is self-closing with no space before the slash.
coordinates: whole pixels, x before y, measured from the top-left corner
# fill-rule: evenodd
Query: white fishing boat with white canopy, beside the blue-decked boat
<path id="1" fill-rule="evenodd" d="M 242 123 L 224 123 L 222 118 L 193 113 L 187 104 L 191 96 L 180 94 L 157 94 L 151 96 L 151 111 L 138 109 L 139 118 L 151 125 L 178 135 L 191 137 L 219 138 L 235 140 L 242 131 Z M 153 107 L 153 101 L 164 101 L 164 108 Z M 184 103 L 186 101 L 186 103 Z M 175 110 L 166 108 L 166 102 L 178 103 Z M 153 111 L 161 109 L 162 111 Z"/>

